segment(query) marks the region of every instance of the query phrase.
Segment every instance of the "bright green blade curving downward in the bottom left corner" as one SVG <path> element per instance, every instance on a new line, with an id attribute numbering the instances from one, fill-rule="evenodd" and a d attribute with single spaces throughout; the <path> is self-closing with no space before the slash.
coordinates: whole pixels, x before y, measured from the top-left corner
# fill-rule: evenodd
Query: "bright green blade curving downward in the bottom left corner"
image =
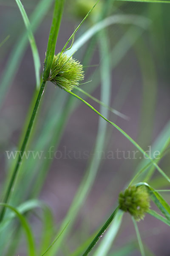
<path id="1" fill-rule="evenodd" d="M 36 256 L 34 237 L 33 237 L 31 228 L 29 227 L 29 224 L 28 224 L 26 218 L 22 214 L 20 214 L 20 212 L 16 208 L 12 207 L 9 204 L 0 203 L 0 206 L 10 209 L 12 212 L 14 212 L 17 215 L 17 218 L 19 218 L 21 225 L 26 232 L 26 238 L 27 238 L 27 242 L 28 242 L 28 256 Z"/>

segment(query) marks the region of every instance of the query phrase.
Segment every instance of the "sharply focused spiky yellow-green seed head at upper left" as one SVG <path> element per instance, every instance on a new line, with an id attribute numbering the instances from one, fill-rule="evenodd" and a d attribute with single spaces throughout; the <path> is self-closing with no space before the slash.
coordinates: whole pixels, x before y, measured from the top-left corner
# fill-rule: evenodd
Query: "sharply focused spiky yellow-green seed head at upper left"
<path id="1" fill-rule="evenodd" d="M 79 86 L 79 81 L 83 79 L 84 71 L 79 61 L 65 53 L 59 52 L 54 55 L 49 81 L 62 89 L 72 90 L 75 86 Z"/>

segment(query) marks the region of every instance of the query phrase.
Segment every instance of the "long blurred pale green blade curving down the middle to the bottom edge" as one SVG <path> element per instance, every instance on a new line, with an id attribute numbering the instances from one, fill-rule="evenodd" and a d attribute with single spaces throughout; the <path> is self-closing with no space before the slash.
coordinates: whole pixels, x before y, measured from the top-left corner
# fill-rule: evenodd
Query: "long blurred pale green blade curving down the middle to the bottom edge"
<path id="1" fill-rule="evenodd" d="M 102 33 L 102 38 L 100 38 L 100 54 L 101 54 L 101 100 L 105 102 L 105 104 L 110 103 L 110 95 L 111 95 L 111 67 L 110 67 L 110 56 L 108 54 L 108 37 L 105 32 Z M 105 116 L 108 116 L 108 110 L 106 108 L 100 107 L 100 110 Z M 102 131 L 102 133 L 101 133 Z M 85 176 L 82 179 L 82 182 L 79 186 L 79 189 L 77 190 L 76 195 L 74 196 L 74 199 L 72 201 L 71 207 L 68 210 L 67 215 L 65 216 L 64 220 L 62 221 L 60 230 L 63 229 L 65 224 L 71 220 L 71 223 L 66 230 L 65 233 L 60 237 L 59 242 L 57 243 L 56 248 L 54 247 L 53 254 L 56 255 L 57 250 L 59 249 L 59 245 L 63 241 L 63 239 L 66 236 L 66 233 L 68 233 L 76 219 L 76 216 L 79 212 L 79 209 L 82 207 L 82 202 L 85 201 L 85 199 L 88 196 L 88 193 L 91 190 L 91 187 L 94 183 L 97 171 L 99 169 L 99 165 L 101 163 L 102 159 L 102 149 L 105 146 L 105 136 L 107 131 L 107 123 L 100 119 L 99 120 L 99 127 L 96 135 L 96 142 L 94 145 L 94 150 L 91 159 L 89 160 Z M 99 152 L 101 156 L 99 155 Z"/>

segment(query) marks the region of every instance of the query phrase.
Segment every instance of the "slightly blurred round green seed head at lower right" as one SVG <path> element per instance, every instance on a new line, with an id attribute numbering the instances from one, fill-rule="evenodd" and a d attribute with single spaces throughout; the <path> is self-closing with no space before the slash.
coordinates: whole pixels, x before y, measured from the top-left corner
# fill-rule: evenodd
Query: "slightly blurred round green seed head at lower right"
<path id="1" fill-rule="evenodd" d="M 129 212 L 136 221 L 144 218 L 150 207 L 150 198 L 145 186 L 130 186 L 119 194 L 119 208 Z"/>

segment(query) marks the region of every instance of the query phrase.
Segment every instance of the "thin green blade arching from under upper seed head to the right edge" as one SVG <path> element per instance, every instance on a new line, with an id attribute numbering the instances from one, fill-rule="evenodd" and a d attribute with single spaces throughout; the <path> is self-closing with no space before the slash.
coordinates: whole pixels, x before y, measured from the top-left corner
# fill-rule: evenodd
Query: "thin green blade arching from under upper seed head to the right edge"
<path id="1" fill-rule="evenodd" d="M 118 125 L 116 125 L 115 123 L 109 121 L 107 118 L 105 118 L 104 116 L 101 115 L 101 113 L 99 113 L 94 107 L 92 107 L 88 102 L 86 102 L 84 99 L 80 98 L 79 96 L 77 96 L 75 93 L 64 89 L 67 93 L 70 93 L 72 96 L 74 96 L 75 98 L 81 100 L 83 103 L 85 103 L 85 105 L 87 105 L 89 108 L 91 108 L 95 113 L 97 113 L 99 116 L 101 116 L 106 122 L 110 123 L 111 125 L 113 125 L 119 132 L 121 132 L 136 148 L 139 149 L 139 151 L 142 152 L 142 154 L 144 154 L 145 157 L 147 157 L 148 160 L 150 160 L 152 162 L 152 164 L 156 167 L 156 169 L 160 172 L 160 174 L 162 176 L 164 176 L 165 179 L 168 180 L 168 182 L 170 182 L 170 178 L 163 172 L 163 170 L 157 165 L 157 163 L 154 162 L 154 160 L 127 134 L 125 133 L 125 131 L 123 131 L 121 128 L 119 128 Z"/>

